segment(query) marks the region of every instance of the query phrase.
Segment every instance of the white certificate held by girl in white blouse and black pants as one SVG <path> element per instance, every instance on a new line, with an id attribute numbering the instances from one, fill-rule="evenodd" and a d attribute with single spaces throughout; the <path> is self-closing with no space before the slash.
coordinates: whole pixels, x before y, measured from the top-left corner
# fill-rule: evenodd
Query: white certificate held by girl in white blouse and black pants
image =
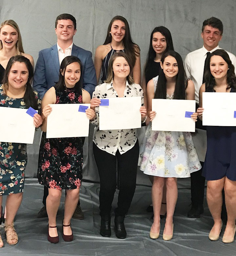
<path id="1" fill-rule="evenodd" d="M 141 128 L 141 97 L 117 97 L 106 100 L 109 101 L 109 105 L 99 106 L 100 130 Z"/>

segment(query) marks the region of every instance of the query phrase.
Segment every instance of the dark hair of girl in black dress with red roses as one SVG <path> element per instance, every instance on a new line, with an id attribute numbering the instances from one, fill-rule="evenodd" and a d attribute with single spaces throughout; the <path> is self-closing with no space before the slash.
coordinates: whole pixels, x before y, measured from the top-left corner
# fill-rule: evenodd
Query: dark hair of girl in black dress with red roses
<path id="1" fill-rule="evenodd" d="M 80 80 L 74 86 L 75 91 L 76 92 L 80 92 L 81 88 L 83 88 L 83 83 L 82 83 L 82 81 L 83 81 L 83 79 L 82 79 L 83 70 L 82 70 L 82 63 L 81 63 L 80 59 L 78 57 L 76 57 L 76 56 L 67 56 L 61 62 L 59 81 L 55 85 L 55 88 L 57 90 L 64 91 L 67 88 L 66 84 L 65 84 L 65 78 L 62 75 L 62 72 L 63 72 L 63 74 L 65 74 L 66 67 L 69 64 L 73 63 L 73 62 L 78 62 L 79 63 L 79 65 L 80 65 L 80 73 L 81 73 Z"/>

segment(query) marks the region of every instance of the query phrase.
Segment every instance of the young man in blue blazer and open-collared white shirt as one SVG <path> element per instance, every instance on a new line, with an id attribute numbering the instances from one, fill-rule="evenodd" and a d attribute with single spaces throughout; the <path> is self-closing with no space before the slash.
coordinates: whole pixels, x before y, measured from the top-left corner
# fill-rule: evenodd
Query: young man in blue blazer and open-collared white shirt
<path id="1" fill-rule="evenodd" d="M 55 32 L 57 35 L 57 44 L 39 52 L 34 77 L 33 88 L 39 92 L 43 98 L 46 91 L 55 85 L 59 80 L 60 64 L 67 56 L 76 56 L 81 60 L 83 66 L 83 88 L 90 95 L 96 86 L 96 73 L 92 61 L 92 53 L 73 44 L 73 36 L 76 33 L 76 19 L 71 14 L 63 13 L 56 18 Z M 47 217 L 46 198 L 48 188 L 44 187 L 43 204 L 44 207 L 39 211 L 37 218 Z M 80 201 L 76 207 L 73 218 L 83 220 L 84 214 L 80 208 Z"/>

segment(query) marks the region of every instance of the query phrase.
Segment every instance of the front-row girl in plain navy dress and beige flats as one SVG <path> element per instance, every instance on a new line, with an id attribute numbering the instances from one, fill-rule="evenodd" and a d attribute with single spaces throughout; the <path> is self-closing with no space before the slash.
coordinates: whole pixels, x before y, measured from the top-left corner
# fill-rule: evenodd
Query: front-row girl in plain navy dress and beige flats
<path id="1" fill-rule="evenodd" d="M 199 91 L 199 118 L 202 119 L 203 92 L 236 92 L 234 66 L 224 50 L 216 50 L 209 55 L 206 63 L 206 83 Z M 220 117 L 219 117 L 220 118 Z M 206 198 L 214 225 L 209 239 L 216 241 L 222 229 L 222 190 L 225 190 L 227 224 L 222 241 L 234 241 L 236 226 L 236 128 L 206 126 L 207 150 L 203 176 L 207 180 Z"/>

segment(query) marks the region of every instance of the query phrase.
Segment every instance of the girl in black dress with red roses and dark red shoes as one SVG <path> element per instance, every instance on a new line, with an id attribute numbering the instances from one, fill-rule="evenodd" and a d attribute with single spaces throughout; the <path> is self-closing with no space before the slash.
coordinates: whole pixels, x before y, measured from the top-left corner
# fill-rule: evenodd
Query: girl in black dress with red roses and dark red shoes
<path id="1" fill-rule="evenodd" d="M 52 111 L 49 104 L 90 103 L 90 94 L 82 89 L 81 73 L 83 73 L 82 64 L 79 58 L 75 56 L 64 58 L 60 67 L 59 81 L 46 92 L 42 100 L 44 122 L 41 127 L 43 134 L 37 177 L 39 183 L 49 190 L 46 199 L 49 219 L 48 241 L 54 244 L 59 242 L 56 215 L 63 189 L 67 191 L 62 222 L 63 239 L 66 242 L 73 240 L 70 220 L 79 200 L 84 137 L 47 139 L 47 117 Z M 90 108 L 85 112 L 89 119 L 95 115 L 94 110 Z"/>

